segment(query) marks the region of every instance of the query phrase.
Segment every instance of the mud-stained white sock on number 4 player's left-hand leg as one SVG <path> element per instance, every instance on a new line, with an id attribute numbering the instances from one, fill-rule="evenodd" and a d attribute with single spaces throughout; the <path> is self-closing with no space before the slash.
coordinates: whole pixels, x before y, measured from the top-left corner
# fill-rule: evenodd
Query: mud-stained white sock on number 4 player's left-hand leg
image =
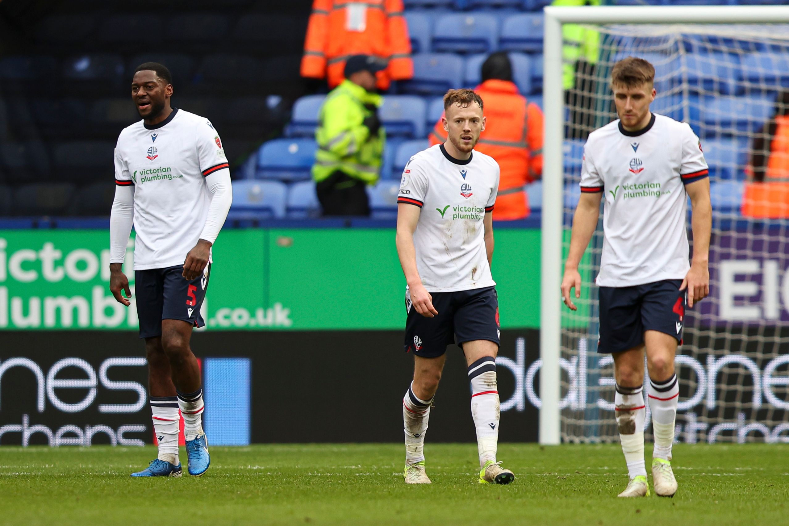
<path id="1" fill-rule="evenodd" d="M 622 441 L 622 451 L 625 453 L 630 479 L 639 475 L 646 476 L 644 464 L 646 405 L 643 390 L 643 386 L 623 387 L 616 384 L 614 397 L 616 425 L 619 427 L 619 439 Z"/>

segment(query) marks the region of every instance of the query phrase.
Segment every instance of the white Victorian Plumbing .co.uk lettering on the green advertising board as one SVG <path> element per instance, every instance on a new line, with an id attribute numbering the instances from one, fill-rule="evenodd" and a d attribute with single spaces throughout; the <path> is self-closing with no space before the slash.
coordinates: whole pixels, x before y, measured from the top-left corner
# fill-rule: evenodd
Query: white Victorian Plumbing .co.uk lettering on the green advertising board
<path id="1" fill-rule="evenodd" d="M 29 245 L 28 245 L 29 246 Z M 123 271 L 133 280 L 133 247 L 126 249 Z M 95 328 L 136 329 L 134 285 L 132 304 L 119 304 L 109 289 L 110 251 L 88 248 L 62 250 L 47 241 L 38 248 L 9 246 L 0 237 L 0 329 Z M 275 303 L 270 308 L 215 308 L 207 299 L 200 309 L 208 326 L 290 327 L 290 308 Z"/>

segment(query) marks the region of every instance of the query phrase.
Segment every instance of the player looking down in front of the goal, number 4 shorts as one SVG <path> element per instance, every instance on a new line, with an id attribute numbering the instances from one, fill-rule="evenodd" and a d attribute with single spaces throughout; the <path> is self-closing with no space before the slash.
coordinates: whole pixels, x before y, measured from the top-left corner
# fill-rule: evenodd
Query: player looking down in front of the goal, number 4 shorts
<path id="1" fill-rule="evenodd" d="M 655 69 L 626 58 L 611 70 L 619 120 L 589 135 L 584 148 L 581 199 L 575 210 L 562 300 L 576 310 L 570 289 L 581 297 L 578 263 L 604 205 L 600 262 L 598 353 L 612 353 L 619 437 L 630 475 L 619 497 L 649 495 L 644 462 L 646 408 L 642 394 L 644 353 L 652 410 L 652 475 L 655 493 L 677 491 L 671 443 L 679 384 L 674 360 L 682 344 L 685 308 L 709 293 L 712 207 L 707 162 L 686 123 L 649 111 L 655 99 Z M 693 259 L 688 264 L 687 198 L 693 211 Z"/>

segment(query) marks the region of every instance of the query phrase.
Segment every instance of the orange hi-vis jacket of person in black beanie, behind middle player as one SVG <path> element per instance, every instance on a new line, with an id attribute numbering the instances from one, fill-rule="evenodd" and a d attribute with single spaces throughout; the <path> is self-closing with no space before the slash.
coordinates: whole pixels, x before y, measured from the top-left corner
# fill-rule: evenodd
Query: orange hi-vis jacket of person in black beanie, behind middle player
<path id="1" fill-rule="evenodd" d="M 507 80 L 485 80 L 474 90 L 482 98 L 485 129 L 474 147 L 499 163 L 499 195 L 495 218 L 522 219 L 529 215 L 524 186 L 542 177 L 543 113 Z M 447 132 L 439 120 L 430 144 L 444 143 Z"/>

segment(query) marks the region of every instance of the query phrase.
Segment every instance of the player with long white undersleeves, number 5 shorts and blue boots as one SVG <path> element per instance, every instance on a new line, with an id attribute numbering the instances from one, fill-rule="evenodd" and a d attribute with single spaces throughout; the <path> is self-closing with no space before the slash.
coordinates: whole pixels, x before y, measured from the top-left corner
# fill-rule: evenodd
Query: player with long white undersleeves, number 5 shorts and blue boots
<path id="1" fill-rule="evenodd" d="M 134 278 L 140 338 L 145 339 L 148 388 L 159 456 L 132 476 L 181 476 L 178 409 L 184 417 L 189 474 L 211 463 L 202 427 L 200 367 L 189 348 L 203 326 L 211 246 L 233 199 L 230 170 L 211 122 L 170 106 L 170 71 L 136 68 L 132 100 L 142 121 L 125 128 L 115 148 L 115 200 L 110 216 L 110 291 L 129 306 L 123 274 L 126 244 L 136 231 Z M 125 297 L 122 294 L 125 292 Z"/>

